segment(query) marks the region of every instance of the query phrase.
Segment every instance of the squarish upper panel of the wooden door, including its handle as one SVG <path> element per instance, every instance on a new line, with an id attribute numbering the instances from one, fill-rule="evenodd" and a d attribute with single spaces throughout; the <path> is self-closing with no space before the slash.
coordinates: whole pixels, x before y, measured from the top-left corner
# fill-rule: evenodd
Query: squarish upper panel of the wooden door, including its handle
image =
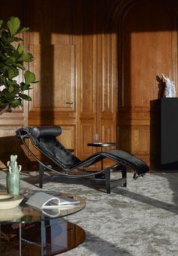
<path id="1" fill-rule="evenodd" d="M 30 68 L 39 83 L 32 90 L 29 114 L 42 110 L 75 111 L 75 45 L 45 45 L 43 51 L 41 45 L 30 45 L 34 55 Z"/>

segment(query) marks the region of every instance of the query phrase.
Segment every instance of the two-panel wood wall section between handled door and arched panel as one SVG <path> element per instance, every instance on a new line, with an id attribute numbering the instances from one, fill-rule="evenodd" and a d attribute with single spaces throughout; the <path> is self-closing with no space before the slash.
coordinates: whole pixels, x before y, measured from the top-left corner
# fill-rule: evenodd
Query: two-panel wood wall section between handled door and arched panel
<path id="1" fill-rule="evenodd" d="M 102 142 L 116 141 L 117 47 L 115 34 L 106 30 L 108 7 L 103 1 L 83 1 L 81 5 L 81 98 L 78 100 L 81 158 L 101 150 L 87 147 L 94 133 L 99 133 Z M 111 148 L 104 148 L 108 149 Z"/>

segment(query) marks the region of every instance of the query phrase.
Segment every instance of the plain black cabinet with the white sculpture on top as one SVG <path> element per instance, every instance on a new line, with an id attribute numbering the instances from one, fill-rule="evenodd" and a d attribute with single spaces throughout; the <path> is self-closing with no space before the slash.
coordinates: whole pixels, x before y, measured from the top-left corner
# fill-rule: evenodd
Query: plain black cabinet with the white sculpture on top
<path id="1" fill-rule="evenodd" d="M 178 170 L 178 98 L 158 100 L 160 167 Z"/>

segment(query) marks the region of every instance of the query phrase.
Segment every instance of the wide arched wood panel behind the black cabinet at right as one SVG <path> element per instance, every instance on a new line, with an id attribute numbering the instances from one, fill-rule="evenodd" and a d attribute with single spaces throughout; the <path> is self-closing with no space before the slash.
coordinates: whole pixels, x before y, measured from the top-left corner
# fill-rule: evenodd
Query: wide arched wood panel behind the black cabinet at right
<path id="1" fill-rule="evenodd" d="M 121 148 L 150 164 L 150 148 L 155 148 L 150 137 L 151 129 L 155 129 L 150 105 L 159 95 L 156 76 L 165 73 L 177 84 L 176 18 L 168 3 L 161 1 L 130 2 L 119 18 Z"/>

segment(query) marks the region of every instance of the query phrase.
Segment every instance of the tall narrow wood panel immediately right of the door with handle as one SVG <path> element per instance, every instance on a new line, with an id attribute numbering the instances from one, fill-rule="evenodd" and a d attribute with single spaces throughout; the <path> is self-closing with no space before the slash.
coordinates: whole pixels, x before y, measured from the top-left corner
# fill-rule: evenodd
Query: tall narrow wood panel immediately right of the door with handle
<path id="1" fill-rule="evenodd" d="M 78 155 L 86 158 L 93 149 L 87 146 L 97 133 L 97 20 L 95 2 L 82 3 L 81 85 L 78 97 Z M 88 22 L 90 20 L 90 23 Z"/>

